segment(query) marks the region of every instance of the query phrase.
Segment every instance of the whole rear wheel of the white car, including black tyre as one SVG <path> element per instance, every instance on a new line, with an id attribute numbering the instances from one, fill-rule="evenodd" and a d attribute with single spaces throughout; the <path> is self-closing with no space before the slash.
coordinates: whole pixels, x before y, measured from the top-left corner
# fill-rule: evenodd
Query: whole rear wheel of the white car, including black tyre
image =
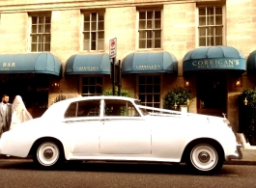
<path id="1" fill-rule="evenodd" d="M 62 148 L 53 141 L 39 143 L 33 154 L 33 160 L 43 168 L 56 167 L 63 161 L 63 158 Z"/>

